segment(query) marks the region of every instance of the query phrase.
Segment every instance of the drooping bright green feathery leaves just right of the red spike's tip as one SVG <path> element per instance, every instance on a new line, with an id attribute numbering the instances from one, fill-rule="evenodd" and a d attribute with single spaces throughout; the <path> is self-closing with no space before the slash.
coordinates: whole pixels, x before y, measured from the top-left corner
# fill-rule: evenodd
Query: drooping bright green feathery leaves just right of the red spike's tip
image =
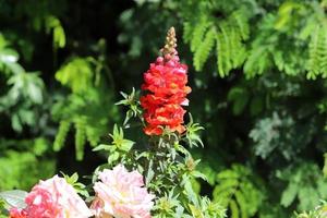
<path id="1" fill-rule="evenodd" d="M 219 20 L 207 16 L 208 10 L 216 10 L 215 5 L 199 1 L 195 7 L 198 7 L 196 14 L 186 16 L 186 22 L 183 24 L 184 40 L 190 43 L 191 51 L 194 52 L 195 70 L 203 69 L 211 49 L 216 46 L 218 73 L 225 77 L 232 69 L 241 66 L 244 62 L 244 41 L 249 39 L 250 28 L 246 12 L 249 9 L 240 7 L 225 20 Z"/>

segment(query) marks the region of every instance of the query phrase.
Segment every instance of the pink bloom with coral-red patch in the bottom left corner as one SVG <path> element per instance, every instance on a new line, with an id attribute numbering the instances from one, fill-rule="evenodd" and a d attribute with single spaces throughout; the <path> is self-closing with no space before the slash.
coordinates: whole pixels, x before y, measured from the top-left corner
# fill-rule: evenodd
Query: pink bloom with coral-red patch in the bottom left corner
<path id="1" fill-rule="evenodd" d="M 23 210 L 12 209 L 12 218 L 87 218 L 93 216 L 74 187 L 63 178 L 40 181 L 25 198 Z M 22 216 L 19 216 L 21 213 Z M 23 216 L 24 215 L 24 216 Z"/>

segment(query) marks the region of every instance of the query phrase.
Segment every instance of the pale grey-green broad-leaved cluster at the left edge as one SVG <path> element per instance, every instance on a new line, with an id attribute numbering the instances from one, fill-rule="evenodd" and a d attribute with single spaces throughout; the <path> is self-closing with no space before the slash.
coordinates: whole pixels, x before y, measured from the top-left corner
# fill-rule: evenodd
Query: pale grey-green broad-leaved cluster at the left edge
<path id="1" fill-rule="evenodd" d="M 17 63 L 19 55 L 0 35 L 0 73 L 7 77 L 8 88 L 0 96 L 0 112 L 11 119 L 12 129 L 22 132 L 24 125 L 35 126 L 44 102 L 45 85 L 38 73 L 25 72 Z"/>

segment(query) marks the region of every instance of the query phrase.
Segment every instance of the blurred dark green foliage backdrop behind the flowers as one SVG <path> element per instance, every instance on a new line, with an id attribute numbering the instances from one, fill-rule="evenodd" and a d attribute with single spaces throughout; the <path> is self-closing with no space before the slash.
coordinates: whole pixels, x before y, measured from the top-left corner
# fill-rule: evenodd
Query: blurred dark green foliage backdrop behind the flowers
<path id="1" fill-rule="evenodd" d="M 204 125 L 199 194 L 283 218 L 327 197 L 326 0 L 0 0 L 0 191 L 105 162 L 92 152 L 170 26 Z M 128 130 L 126 130 L 128 131 Z M 129 131 L 128 131 L 129 132 Z M 140 132 L 129 137 L 141 143 Z M 86 182 L 89 182 L 87 179 Z"/>

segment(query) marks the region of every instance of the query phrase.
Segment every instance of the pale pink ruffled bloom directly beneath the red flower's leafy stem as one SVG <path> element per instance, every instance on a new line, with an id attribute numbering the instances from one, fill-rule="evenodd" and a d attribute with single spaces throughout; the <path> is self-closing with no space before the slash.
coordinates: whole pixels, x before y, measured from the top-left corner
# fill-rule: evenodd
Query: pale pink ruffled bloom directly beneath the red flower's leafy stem
<path id="1" fill-rule="evenodd" d="M 100 182 L 94 190 L 92 204 L 97 217 L 150 218 L 154 195 L 144 187 L 143 177 L 137 171 L 129 172 L 122 165 L 99 173 Z"/>

